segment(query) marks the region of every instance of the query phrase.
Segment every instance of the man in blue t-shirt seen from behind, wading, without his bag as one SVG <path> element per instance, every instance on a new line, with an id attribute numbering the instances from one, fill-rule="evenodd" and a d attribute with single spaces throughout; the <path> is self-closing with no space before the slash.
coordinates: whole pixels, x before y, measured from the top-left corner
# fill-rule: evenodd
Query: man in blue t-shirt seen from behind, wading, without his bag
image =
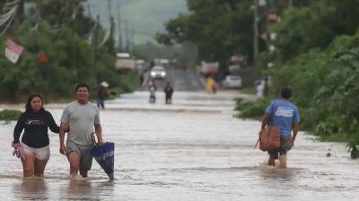
<path id="1" fill-rule="evenodd" d="M 288 87 L 282 88 L 281 99 L 273 100 L 270 103 L 263 116 L 261 125 L 261 129 L 264 129 L 268 125 L 280 127 L 280 147 L 278 150 L 268 151 L 269 159 L 267 165 L 276 166 L 275 160 L 278 159 L 279 153 L 279 168 L 282 169 L 287 167 L 286 153 L 293 147 L 299 131 L 299 111 L 290 101 L 291 98 L 292 90 Z"/>

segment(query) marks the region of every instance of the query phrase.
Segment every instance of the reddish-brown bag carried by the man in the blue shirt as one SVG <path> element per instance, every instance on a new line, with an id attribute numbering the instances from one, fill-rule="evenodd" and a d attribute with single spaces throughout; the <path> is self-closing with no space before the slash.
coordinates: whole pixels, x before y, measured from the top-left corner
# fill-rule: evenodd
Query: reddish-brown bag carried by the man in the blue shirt
<path id="1" fill-rule="evenodd" d="M 263 152 L 278 150 L 280 147 L 280 127 L 269 125 L 259 132 L 259 149 Z"/>

